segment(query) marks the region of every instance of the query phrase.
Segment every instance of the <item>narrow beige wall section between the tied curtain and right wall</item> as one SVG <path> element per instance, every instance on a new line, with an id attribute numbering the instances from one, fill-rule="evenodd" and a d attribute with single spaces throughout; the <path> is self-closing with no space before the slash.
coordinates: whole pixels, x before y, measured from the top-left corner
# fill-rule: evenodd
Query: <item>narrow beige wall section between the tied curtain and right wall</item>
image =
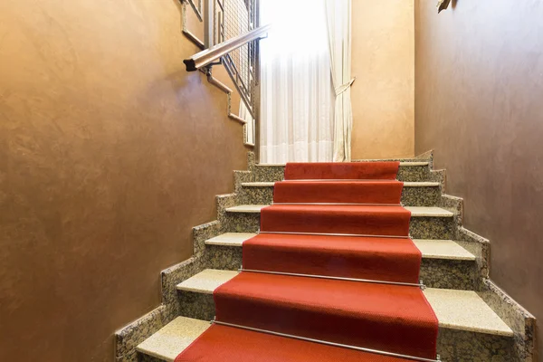
<path id="1" fill-rule="evenodd" d="M 414 156 L 414 4 L 353 0 L 352 157 Z"/>

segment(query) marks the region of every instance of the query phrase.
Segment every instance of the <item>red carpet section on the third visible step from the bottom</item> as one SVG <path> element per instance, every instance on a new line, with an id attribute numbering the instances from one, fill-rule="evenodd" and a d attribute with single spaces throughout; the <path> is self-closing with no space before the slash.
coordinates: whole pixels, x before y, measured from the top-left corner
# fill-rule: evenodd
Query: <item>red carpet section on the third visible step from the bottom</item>
<path id="1" fill-rule="evenodd" d="M 260 233 L 243 243 L 243 268 L 417 283 L 411 239 Z"/>

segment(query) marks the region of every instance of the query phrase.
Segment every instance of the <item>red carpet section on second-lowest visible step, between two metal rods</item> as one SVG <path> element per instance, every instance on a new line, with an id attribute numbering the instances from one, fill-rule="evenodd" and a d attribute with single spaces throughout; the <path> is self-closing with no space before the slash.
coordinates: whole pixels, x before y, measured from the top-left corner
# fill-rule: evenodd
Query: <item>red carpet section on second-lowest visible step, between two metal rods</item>
<path id="1" fill-rule="evenodd" d="M 435 357 L 434 316 L 416 287 L 242 272 L 214 300 L 219 321 Z"/>

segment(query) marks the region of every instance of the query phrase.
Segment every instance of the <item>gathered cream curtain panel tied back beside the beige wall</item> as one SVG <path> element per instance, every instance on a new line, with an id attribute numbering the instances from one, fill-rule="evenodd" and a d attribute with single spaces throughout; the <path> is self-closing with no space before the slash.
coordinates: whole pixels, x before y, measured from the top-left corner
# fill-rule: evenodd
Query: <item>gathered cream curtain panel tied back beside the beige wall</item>
<path id="1" fill-rule="evenodd" d="M 332 80 L 336 93 L 334 161 L 350 161 L 353 113 L 351 79 L 351 0 L 325 0 Z"/>

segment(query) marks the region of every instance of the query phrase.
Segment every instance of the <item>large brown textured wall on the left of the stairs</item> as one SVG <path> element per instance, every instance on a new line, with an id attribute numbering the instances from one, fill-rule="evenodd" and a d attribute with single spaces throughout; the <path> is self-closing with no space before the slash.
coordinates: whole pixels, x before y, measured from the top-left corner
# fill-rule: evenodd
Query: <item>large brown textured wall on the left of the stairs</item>
<path id="1" fill-rule="evenodd" d="M 0 2 L 0 360 L 112 361 L 246 166 L 176 0 Z"/>

